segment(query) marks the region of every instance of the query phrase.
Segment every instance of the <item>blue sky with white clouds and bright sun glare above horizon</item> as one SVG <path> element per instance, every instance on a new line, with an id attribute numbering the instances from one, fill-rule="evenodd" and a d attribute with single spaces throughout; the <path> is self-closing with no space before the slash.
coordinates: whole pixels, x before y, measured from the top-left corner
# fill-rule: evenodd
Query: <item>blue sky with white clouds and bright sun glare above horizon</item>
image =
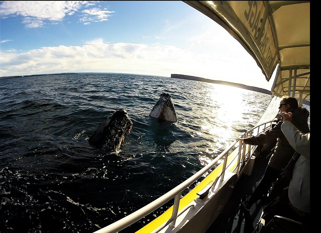
<path id="1" fill-rule="evenodd" d="M 273 84 L 235 38 L 183 1 L 0 1 L 0 77 L 64 72 Z"/>

